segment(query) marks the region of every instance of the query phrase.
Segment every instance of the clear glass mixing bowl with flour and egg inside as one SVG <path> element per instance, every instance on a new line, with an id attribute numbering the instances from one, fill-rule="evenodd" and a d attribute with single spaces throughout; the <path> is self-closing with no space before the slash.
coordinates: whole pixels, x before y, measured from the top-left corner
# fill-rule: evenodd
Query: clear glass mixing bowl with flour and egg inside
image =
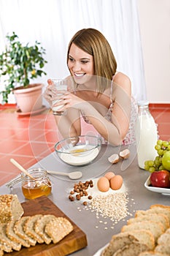
<path id="1" fill-rule="evenodd" d="M 55 144 L 58 157 L 68 165 L 82 166 L 93 162 L 101 150 L 101 139 L 82 135 L 66 138 Z"/>

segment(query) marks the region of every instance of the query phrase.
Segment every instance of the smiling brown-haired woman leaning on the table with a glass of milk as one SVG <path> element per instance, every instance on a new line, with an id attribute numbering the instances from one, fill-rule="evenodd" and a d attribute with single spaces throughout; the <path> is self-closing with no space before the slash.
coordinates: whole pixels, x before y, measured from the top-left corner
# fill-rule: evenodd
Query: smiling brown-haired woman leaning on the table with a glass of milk
<path id="1" fill-rule="evenodd" d="M 81 135 L 82 116 L 92 125 L 104 142 L 113 146 L 134 142 L 133 125 L 136 108 L 132 104 L 131 80 L 117 72 L 112 49 L 96 29 L 77 31 L 69 42 L 67 65 L 71 76 L 68 91 L 53 91 L 53 83 L 45 91 L 48 101 L 61 99 L 65 116 L 55 116 L 63 138 Z"/>

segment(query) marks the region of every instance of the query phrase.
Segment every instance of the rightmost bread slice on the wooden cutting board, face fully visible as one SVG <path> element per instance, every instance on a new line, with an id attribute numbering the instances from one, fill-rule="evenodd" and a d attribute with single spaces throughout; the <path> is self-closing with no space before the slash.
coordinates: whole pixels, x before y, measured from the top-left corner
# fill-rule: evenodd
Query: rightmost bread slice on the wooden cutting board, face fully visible
<path id="1" fill-rule="evenodd" d="M 50 238 L 52 238 L 54 244 L 69 235 L 72 230 L 73 226 L 71 222 L 63 217 L 56 217 L 45 226 L 45 232 L 50 236 Z"/>

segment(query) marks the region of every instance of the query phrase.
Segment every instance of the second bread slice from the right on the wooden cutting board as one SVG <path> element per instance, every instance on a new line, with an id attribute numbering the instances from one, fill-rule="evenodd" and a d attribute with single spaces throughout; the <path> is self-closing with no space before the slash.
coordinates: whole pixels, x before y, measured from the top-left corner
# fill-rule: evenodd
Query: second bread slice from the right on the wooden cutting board
<path id="1" fill-rule="evenodd" d="M 35 232 L 41 236 L 41 238 L 45 241 L 45 244 L 50 244 L 52 241 L 52 238 L 45 233 L 45 226 L 48 222 L 55 219 L 56 217 L 54 215 L 43 215 L 40 219 L 37 219 L 34 225 Z"/>

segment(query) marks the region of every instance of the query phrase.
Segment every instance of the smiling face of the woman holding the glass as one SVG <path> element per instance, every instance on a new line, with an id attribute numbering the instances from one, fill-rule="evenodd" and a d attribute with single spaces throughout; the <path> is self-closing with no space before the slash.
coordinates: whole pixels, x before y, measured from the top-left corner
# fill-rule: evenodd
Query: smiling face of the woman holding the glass
<path id="1" fill-rule="evenodd" d="M 75 82 L 85 84 L 94 75 L 93 56 L 72 43 L 69 50 L 68 67 Z"/>

